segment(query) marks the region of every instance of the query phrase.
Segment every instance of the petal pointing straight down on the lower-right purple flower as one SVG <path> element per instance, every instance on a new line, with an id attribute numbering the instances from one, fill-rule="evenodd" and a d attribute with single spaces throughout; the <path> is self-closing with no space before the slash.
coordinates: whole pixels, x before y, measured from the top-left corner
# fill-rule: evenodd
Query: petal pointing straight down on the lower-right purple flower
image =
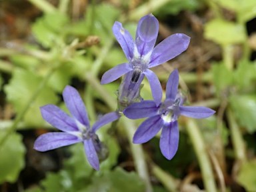
<path id="1" fill-rule="evenodd" d="M 160 137 L 160 149 L 166 159 L 171 160 L 179 147 L 179 126 L 174 121 L 169 125 L 164 125 Z"/>

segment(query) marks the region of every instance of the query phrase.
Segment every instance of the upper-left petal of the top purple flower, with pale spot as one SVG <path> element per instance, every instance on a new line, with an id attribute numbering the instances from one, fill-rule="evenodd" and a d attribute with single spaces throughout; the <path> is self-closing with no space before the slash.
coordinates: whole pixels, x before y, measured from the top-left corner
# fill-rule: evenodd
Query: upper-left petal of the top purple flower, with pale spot
<path id="1" fill-rule="evenodd" d="M 121 45 L 128 61 L 131 61 L 131 59 L 133 58 L 133 50 L 135 47 L 133 37 L 131 37 L 131 34 L 123 28 L 122 23 L 119 23 L 118 21 L 115 21 L 112 31 L 118 43 Z"/>

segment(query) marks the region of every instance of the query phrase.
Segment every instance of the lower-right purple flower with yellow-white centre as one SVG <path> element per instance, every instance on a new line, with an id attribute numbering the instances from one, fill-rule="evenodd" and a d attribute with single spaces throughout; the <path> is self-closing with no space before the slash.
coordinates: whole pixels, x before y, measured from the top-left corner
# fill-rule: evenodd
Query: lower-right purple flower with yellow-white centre
<path id="1" fill-rule="evenodd" d="M 146 119 L 133 136 L 133 143 L 145 143 L 152 139 L 162 129 L 160 149 L 167 159 L 172 159 L 179 145 L 179 127 L 177 119 L 180 115 L 196 119 L 210 117 L 215 113 L 207 107 L 182 106 L 185 97 L 177 91 L 179 86 L 179 73 L 175 69 L 169 76 L 166 85 L 166 99 L 156 107 L 154 101 L 141 101 L 127 107 L 123 113 L 130 119 Z"/>

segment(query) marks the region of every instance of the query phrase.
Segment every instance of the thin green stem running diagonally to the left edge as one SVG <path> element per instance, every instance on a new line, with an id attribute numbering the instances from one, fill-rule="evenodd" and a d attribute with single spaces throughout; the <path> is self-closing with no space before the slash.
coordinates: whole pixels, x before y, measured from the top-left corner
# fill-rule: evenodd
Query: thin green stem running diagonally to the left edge
<path id="1" fill-rule="evenodd" d="M 17 117 L 13 121 L 13 124 L 11 125 L 11 127 L 9 127 L 9 129 L 7 129 L 7 131 L 5 132 L 5 136 L 0 141 L 0 147 L 3 146 L 3 143 L 5 143 L 5 141 L 9 138 L 9 135 L 11 133 L 13 133 L 13 131 L 15 131 L 18 123 L 21 121 L 21 119 L 23 118 L 23 116 L 25 115 L 25 113 L 27 112 L 29 107 L 31 106 L 31 103 L 33 103 L 35 101 L 35 99 L 37 99 L 37 96 L 39 95 L 39 93 L 41 92 L 43 87 L 45 87 L 45 84 L 47 83 L 48 79 L 51 77 L 51 75 L 53 74 L 54 71 L 55 71 L 55 69 L 51 69 L 47 73 L 47 75 L 43 78 L 43 81 L 41 81 L 41 83 L 39 84 L 39 86 L 37 87 L 35 92 L 31 95 L 31 98 L 27 101 L 25 107 L 22 109 L 22 111 L 20 113 L 17 114 Z"/>

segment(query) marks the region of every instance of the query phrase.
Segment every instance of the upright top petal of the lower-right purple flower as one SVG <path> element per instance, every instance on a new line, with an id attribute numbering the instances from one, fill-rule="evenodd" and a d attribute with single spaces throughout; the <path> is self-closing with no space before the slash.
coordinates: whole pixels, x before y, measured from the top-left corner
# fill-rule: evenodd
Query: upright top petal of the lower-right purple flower
<path id="1" fill-rule="evenodd" d="M 165 91 L 166 98 L 171 99 L 172 101 L 175 101 L 178 87 L 179 87 L 179 72 L 177 69 L 175 69 L 173 72 L 171 72 L 171 75 L 169 76 L 166 84 L 166 91 Z"/>

